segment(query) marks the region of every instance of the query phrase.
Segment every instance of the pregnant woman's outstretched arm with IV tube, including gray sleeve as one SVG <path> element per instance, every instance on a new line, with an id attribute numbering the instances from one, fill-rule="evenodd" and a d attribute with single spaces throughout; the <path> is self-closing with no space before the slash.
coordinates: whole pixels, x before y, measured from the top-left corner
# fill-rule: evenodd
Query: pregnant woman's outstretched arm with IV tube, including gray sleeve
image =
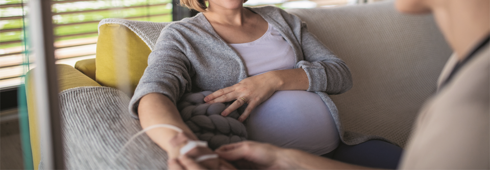
<path id="1" fill-rule="evenodd" d="M 191 82 L 193 75 L 189 60 L 179 48 L 187 42 L 178 40 L 179 36 L 172 29 L 167 27 L 162 30 L 157 44 L 148 56 L 148 67 L 136 87 L 129 110 L 133 117 L 140 120 L 142 128 L 155 124 L 171 124 L 181 128 L 189 139 L 197 139 L 176 107 L 180 96 L 190 91 L 188 82 Z M 172 147 L 170 144 L 170 139 L 177 134 L 176 131 L 156 128 L 146 134 L 167 151 L 170 158 L 178 156 L 179 147 Z"/>

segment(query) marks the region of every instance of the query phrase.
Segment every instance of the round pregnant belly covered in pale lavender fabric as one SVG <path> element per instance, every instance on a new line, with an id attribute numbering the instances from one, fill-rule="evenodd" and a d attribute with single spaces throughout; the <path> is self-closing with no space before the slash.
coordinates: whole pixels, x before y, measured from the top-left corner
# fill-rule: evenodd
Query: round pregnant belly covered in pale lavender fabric
<path id="1" fill-rule="evenodd" d="M 316 155 L 338 146 L 339 136 L 325 102 L 307 91 L 278 91 L 257 106 L 247 122 L 250 140 Z"/>

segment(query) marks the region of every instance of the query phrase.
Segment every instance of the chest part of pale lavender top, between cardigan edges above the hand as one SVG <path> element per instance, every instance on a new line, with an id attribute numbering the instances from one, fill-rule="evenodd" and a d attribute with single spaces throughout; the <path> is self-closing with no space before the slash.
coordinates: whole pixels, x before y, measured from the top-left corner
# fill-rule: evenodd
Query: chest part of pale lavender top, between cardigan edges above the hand
<path id="1" fill-rule="evenodd" d="M 267 32 L 255 41 L 229 44 L 243 59 L 249 76 L 295 68 L 295 51 L 271 24 L 268 25 Z"/>

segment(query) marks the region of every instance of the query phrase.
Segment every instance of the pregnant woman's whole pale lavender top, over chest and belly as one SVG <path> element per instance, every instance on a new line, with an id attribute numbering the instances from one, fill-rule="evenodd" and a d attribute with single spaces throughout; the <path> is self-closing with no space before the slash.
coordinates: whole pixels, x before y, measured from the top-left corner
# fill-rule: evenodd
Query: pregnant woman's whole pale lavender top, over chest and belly
<path id="1" fill-rule="evenodd" d="M 295 68 L 292 47 L 271 24 L 257 40 L 229 45 L 241 56 L 249 76 Z M 312 92 L 277 91 L 258 105 L 248 119 L 249 140 L 316 155 L 334 150 L 339 143 L 330 110 L 320 96 Z"/>

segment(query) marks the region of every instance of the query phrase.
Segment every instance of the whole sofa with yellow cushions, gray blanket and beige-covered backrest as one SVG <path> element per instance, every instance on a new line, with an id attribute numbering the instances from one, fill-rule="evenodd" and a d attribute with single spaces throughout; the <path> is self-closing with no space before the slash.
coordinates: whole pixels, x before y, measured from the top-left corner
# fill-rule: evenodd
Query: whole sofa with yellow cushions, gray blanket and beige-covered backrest
<path id="1" fill-rule="evenodd" d="M 353 88 L 330 96 L 344 127 L 340 135 L 370 135 L 405 147 L 418 111 L 436 92 L 438 75 L 452 53 L 432 16 L 400 14 L 393 1 L 287 11 L 306 22 L 352 72 Z M 79 61 L 75 67 L 56 65 L 67 168 L 166 168 L 166 154 L 146 135 L 134 147 L 120 148 L 141 130 L 127 104 L 167 24 L 104 19 L 95 59 Z M 36 167 L 42 136 L 37 131 L 32 72 L 26 89 Z M 95 111 L 85 113 L 88 108 Z"/>

